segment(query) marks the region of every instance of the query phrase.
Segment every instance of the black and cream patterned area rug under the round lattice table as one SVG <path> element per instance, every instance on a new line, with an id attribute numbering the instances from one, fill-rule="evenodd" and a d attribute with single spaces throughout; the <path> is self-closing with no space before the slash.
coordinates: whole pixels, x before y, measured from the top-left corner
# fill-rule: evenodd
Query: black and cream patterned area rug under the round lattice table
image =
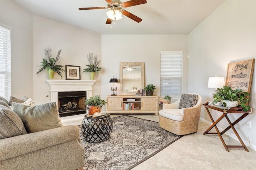
<path id="1" fill-rule="evenodd" d="M 88 143 L 80 130 L 84 170 L 130 170 L 182 137 L 160 128 L 157 122 L 128 115 L 112 121 L 108 141 Z"/>

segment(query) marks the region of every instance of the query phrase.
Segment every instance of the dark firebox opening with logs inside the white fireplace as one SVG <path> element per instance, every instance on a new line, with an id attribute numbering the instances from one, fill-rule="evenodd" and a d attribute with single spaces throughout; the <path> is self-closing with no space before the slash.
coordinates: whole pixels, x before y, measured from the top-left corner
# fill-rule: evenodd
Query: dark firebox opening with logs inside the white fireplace
<path id="1" fill-rule="evenodd" d="M 86 91 L 58 92 L 60 117 L 86 113 Z"/>

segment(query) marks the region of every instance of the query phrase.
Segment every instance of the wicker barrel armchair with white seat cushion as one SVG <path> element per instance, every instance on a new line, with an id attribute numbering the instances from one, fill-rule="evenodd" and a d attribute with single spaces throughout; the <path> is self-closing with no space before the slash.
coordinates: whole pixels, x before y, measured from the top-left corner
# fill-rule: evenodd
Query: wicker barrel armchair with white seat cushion
<path id="1" fill-rule="evenodd" d="M 178 109 L 180 99 L 172 104 L 164 104 L 163 109 L 159 110 L 160 127 L 176 135 L 196 132 L 202 108 L 202 97 L 196 95 L 198 99 L 193 107 Z"/>

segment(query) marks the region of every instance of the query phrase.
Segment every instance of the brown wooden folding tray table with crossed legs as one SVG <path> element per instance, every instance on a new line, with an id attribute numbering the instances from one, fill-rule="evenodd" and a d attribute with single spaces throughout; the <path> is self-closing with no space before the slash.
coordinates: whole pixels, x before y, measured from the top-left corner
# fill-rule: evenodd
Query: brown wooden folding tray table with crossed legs
<path id="1" fill-rule="evenodd" d="M 220 137 L 220 140 L 222 141 L 222 144 L 224 145 L 225 149 L 229 152 L 228 148 L 241 148 L 241 149 L 245 149 L 247 152 L 249 152 L 249 150 L 246 148 L 246 146 L 244 145 L 244 142 L 242 141 L 242 139 L 240 138 L 240 136 L 238 135 L 236 129 L 234 128 L 234 125 L 236 125 L 236 123 L 238 123 L 239 121 L 241 121 L 242 119 L 244 119 L 244 117 L 246 117 L 251 110 L 249 110 L 248 112 L 244 112 L 242 110 L 241 107 L 231 107 L 230 109 L 220 109 L 220 108 L 217 108 L 217 107 L 213 107 L 213 106 L 209 106 L 208 105 L 208 102 L 206 104 L 203 104 L 203 106 L 206 108 L 206 111 L 208 113 L 208 115 L 210 116 L 210 119 L 212 120 L 212 125 L 204 132 L 204 135 L 206 134 L 218 134 L 219 137 Z M 212 115 L 209 111 L 209 109 L 213 109 L 213 110 L 217 110 L 217 111 L 220 111 L 222 112 L 223 114 L 216 120 L 214 121 L 213 118 L 212 118 Z M 242 116 L 240 116 L 238 119 L 236 119 L 233 123 L 231 123 L 230 119 L 228 118 L 228 113 L 229 114 L 235 114 L 235 113 L 243 113 Z M 228 123 L 229 123 L 229 126 L 224 129 L 222 132 L 220 132 L 218 130 L 218 127 L 217 127 L 217 123 L 223 119 L 224 117 L 226 117 Z M 209 132 L 213 127 L 215 127 L 217 133 L 212 133 L 212 132 Z M 223 135 L 226 131 L 228 131 L 230 128 L 233 129 L 234 133 L 236 134 L 236 137 L 238 138 L 238 140 L 240 141 L 240 143 L 242 145 L 226 145 L 226 143 L 224 142 L 223 138 L 221 135 Z"/>

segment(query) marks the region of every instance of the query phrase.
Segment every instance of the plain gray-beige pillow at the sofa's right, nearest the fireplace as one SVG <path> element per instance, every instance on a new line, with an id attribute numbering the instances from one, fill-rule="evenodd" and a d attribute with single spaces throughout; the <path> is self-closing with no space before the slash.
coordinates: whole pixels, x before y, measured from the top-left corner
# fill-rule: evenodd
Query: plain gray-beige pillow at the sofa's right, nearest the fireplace
<path id="1" fill-rule="evenodd" d="M 35 106 L 26 106 L 13 102 L 12 109 L 20 116 L 28 133 L 62 126 L 55 102 Z"/>

